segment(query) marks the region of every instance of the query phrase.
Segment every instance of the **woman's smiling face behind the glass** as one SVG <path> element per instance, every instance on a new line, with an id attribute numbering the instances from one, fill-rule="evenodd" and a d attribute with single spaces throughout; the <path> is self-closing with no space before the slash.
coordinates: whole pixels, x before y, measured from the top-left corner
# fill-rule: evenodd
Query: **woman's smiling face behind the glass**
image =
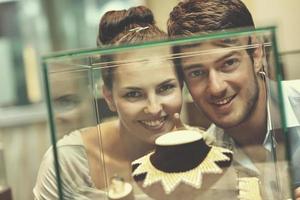
<path id="1" fill-rule="evenodd" d="M 141 58 L 143 62 L 118 66 L 112 89 L 103 88 L 109 107 L 118 113 L 122 135 L 133 134 L 150 144 L 158 134 L 173 129 L 173 114 L 179 113 L 182 105 L 182 82 L 171 61 L 159 59 L 161 53 L 148 50 L 119 55 L 120 60 Z"/>

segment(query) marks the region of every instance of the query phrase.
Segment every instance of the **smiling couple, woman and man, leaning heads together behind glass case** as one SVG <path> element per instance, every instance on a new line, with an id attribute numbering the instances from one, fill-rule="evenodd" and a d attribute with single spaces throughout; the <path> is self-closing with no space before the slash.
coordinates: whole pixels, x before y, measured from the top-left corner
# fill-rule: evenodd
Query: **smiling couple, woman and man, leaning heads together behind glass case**
<path id="1" fill-rule="evenodd" d="M 185 1 L 173 9 L 168 21 L 171 37 L 240 27 L 254 27 L 254 23 L 247 8 L 238 0 Z M 100 22 L 97 43 L 128 44 L 164 38 L 167 35 L 155 26 L 151 11 L 135 7 L 106 13 Z M 248 45 L 254 43 L 255 38 L 226 42 L 191 46 L 181 51 Z M 169 49 L 162 51 L 170 53 Z M 131 172 L 127 170 L 130 169 L 130 161 L 151 151 L 158 135 L 176 129 L 178 119 L 175 116 L 182 106 L 183 80 L 194 102 L 214 122 L 207 133 L 239 146 L 237 149 L 243 149 L 247 155 L 236 162 L 246 166 L 249 173 L 255 173 L 256 165 L 249 167 L 249 162 L 273 159 L 270 157 L 272 152 L 265 148 L 270 144 L 269 138 L 273 138 L 267 134 L 270 132 L 267 126 L 269 116 L 265 79 L 260 75 L 260 48 L 251 52 L 244 50 L 229 55 L 218 54 L 208 59 L 182 58 L 180 68 L 174 67 L 171 61 L 159 59 L 153 65 L 159 54 L 152 52 L 151 62 L 146 62 L 142 67 L 133 63 L 102 70 L 103 95 L 109 108 L 117 112 L 119 118 L 103 122 L 99 127 L 74 131 L 58 142 L 64 199 L 105 198 L 105 192 L 101 189 L 105 188 L 106 178 L 99 175 L 104 171 L 109 177 L 113 177 L 115 171 L 121 172 L 118 176 L 130 180 Z M 145 60 L 149 59 L 145 55 L 147 52 L 135 52 L 109 59 L 131 60 L 143 56 Z M 155 76 L 149 76 L 151 74 Z M 105 141 L 101 146 L 105 155 L 99 153 L 99 128 Z M 253 146 L 258 147 L 255 152 L 251 148 Z M 257 149 L 262 153 L 257 154 Z M 110 168 L 104 170 L 102 156 Z M 264 181 L 266 185 L 269 184 L 268 178 Z M 272 190 L 265 193 L 265 199 L 277 198 L 272 196 Z M 51 150 L 41 164 L 34 195 L 36 199 L 58 198 Z"/>

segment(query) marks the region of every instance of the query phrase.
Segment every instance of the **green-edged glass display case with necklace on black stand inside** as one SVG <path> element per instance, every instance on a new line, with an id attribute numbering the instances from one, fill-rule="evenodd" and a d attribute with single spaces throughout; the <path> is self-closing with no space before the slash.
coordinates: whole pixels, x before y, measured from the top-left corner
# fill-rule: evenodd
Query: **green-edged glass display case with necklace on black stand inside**
<path id="1" fill-rule="evenodd" d="M 39 176 L 60 199 L 292 198 L 300 84 L 279 58 L 274 27 L 46 56 Z"/>

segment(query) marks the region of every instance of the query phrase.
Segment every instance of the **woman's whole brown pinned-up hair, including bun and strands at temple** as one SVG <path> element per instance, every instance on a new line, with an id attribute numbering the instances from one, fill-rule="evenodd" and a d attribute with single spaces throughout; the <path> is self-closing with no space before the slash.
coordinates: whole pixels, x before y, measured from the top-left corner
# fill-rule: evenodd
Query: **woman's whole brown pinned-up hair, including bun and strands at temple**
<path id="1" fill-rule="evenodd" d="M 97 46 L 136 44 L 146 41 L 167 39 L 165 32 L 160 30 L 154 21 L 153 13 L 144 6 L 132 7 L 128 10 L 106 12 L 99 24 Z M 110 56 L 103 56 L 109 61 Z M 101 70 L 105 86 L 112 89 L 114 67 Z"/>

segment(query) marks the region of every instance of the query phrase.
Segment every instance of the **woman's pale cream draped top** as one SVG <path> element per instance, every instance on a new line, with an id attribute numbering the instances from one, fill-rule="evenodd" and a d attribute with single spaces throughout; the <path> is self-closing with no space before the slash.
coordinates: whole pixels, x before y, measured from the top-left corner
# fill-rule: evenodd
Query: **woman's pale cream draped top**
<path id="1" fill-rule="evenodd" d="M 79 130 L 59 140 L 57 151 L 65 200 L 107 199 L 107 192 L 97 189 L 90 176 L 87 153 Z M 59 199 L 52 147 L 43 157 L 33 193 L 35 200 Z M 138 195 L 135 199 L 149 197 Z"/>

